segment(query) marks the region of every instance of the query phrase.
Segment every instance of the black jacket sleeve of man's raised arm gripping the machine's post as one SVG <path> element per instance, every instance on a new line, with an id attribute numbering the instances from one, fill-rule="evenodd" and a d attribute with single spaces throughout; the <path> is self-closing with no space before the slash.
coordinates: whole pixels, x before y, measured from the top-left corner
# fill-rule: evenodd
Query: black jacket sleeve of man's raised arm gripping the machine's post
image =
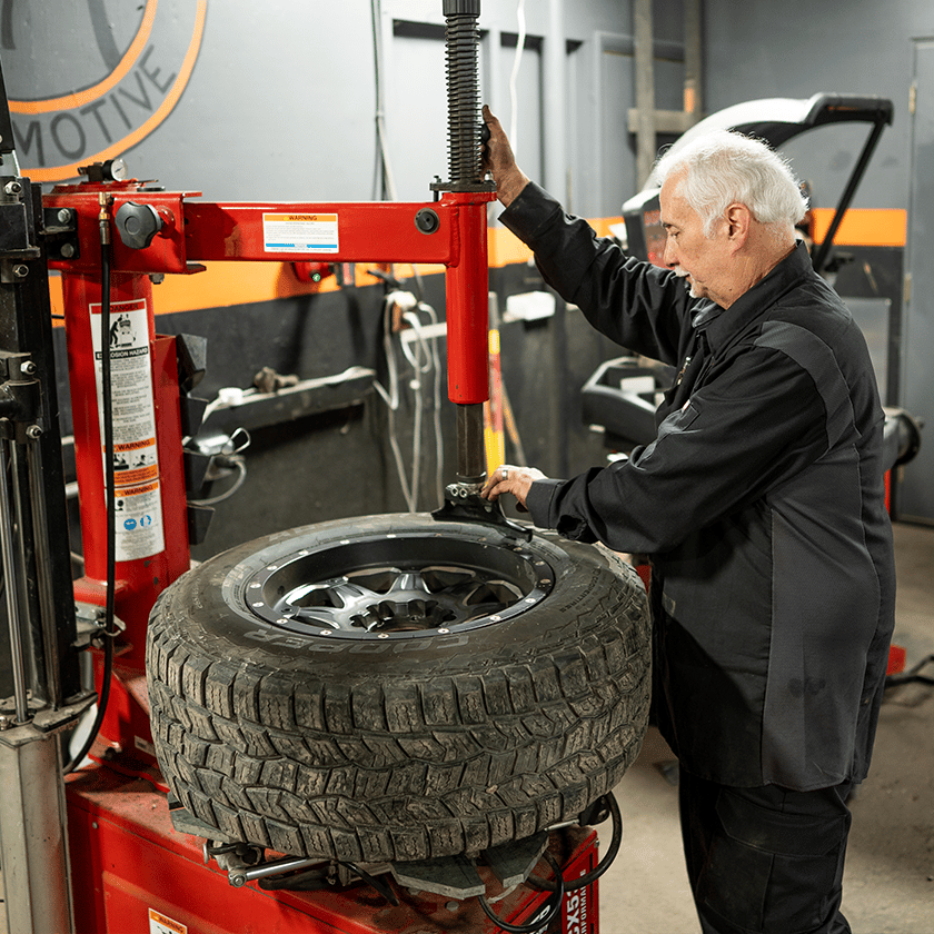
<path id="1" fill-rule="evenodd" d="M 534 182 L 500 220 L 531 248 L 545 281 L 600 334 L 655 360 L 679 362 L 692 307 L 683 279 L 627 257 Z"/>

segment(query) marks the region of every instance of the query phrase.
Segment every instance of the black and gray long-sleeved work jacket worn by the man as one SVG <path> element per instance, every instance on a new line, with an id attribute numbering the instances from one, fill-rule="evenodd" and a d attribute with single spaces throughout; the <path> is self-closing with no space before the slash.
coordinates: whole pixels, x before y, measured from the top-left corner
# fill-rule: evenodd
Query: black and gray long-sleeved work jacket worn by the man
<path id="1" fill-rule="evenodd" d="M 534 521 L 652 556 L 656 716 L 734 786 L 865 777 L 894 617 L 884 415 L 803 245 L 724 310 L 529 185 L 501 216 L 620 346 L 677 368 L 628 460 L 535 483 Z"/>

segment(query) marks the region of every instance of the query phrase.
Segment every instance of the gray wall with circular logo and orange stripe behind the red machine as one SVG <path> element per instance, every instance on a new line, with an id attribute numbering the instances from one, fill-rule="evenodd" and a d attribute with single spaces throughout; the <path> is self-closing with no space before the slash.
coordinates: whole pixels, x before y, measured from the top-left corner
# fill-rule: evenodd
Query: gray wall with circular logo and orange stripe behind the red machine
<path id="1" fill-rule="evenodd" d="M 434 177 L 447 176 L 441 0 L 375 6 L 376 13 L 366 0 L 261 6 L 9 0 L 0 23 L 0 59 L 10 98 L 18 101 L 13 119 L 21 165 L 51 186 L 97 156 L 121 155 L 138 178 L 219 201 L 388 196 L 377 175 L 376 30 L 384 156 L 394 193 L 427 200 Z M 668 12 L 679 6 L 657 4 Z M 680 27 L 658 16 L 659 36 L 675 41 Z M 625 121 L 617 119 L 633 105 L 630 4 L 536 0 L 525 3 L 525 18 L 526 48 L 516 76 L 523 166 L 577 212 L 618 215 L 622 200 L 635 190 L 633 145 Z M 484 0 L 480 28 L 483 97 L 508 126 L 519 32 L 515 0 Z M 666 52 L 672 56 L 670 43 Z M 491 210 L 494 226 L 497 213 Z M 544 288 L 521 259 L 507 256 L 497 264 L 491 284 L 501 311 L 511 295 Z M 410 277 L 405 268 L 394 271 Z M 265 276 L 244 267 L 222 275 L 222 287 L 209 269 L 185 280 L 170 277 L 155 289 L 161 332 L 208 337 L 208 372 L 199 395 L 210 399 L 222 387 L 246 389 L 265 366 L 299 379 L 364 366 L 384 384 L 388 379 L 386 289 L 364 265 L 340 287 L 334 279 L 300 287 L 287 267 Z M 420 287 L 444 317 L 443 277 L 436 270 L 423 270 L 420 282 L 406 278 L 404 286 Z M 67 400 L 60 329 L 57 340 L 60 393 Z M 553 476 L 598 463 L 602 441 L 582 421 L 579 389 L 618 348 L 583 327 L 562 302 L 543 321 L 504 325 L 503 347 L 504 377 L 528 461 Z M 444 342 L 440 350 L 444 355 Z M 405 390 L 395 431 L 411 477 L 413 374 L 400 346 L 395 354 Z M 437 503 L 433 406 L 426 396 L 420 508 Z M 449 478 L 454 418 L 449 404 L 443 408 L 441 475 Z M 66 413 L 66 434 L 69 429 Z M 290 525 L 405 509 L 388 436 L 388 411 L 376 391 L 254 430 L 244 455 L 247 479 L 217 505 L 196 557 Z M 507 454 L 518 457 L 513 446 Z M 208 493 L 223 487 L 221 480 Z"/>

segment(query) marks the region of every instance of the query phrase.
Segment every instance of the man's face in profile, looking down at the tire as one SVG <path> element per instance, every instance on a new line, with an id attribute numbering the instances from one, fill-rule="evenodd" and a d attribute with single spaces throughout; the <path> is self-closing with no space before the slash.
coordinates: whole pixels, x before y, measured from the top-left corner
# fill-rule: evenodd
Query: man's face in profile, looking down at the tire
<path id="1" fill-rule="evenodd" d="M 684 171 L 669 177 L 662 186 L 662 226 L 667 231 L 665 265 L 684 276 L 694 298 L 709 298 L 718 305 L 728 304 L 729 252 L 726 221 L 722 218 L 711 237 L 705 236 L 697 211 L 682 196 Z"/>

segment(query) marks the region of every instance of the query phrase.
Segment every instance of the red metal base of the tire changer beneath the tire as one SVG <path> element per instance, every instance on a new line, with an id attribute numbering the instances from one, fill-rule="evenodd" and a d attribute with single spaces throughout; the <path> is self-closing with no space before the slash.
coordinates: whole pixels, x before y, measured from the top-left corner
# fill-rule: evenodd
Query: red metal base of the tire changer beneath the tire
<path id="1" fill-rule="evenodd" d="M 78 934 L 494 934 L 476 898 L 414 894 L 390 882 L 393 906 L 367 885 L 327 892 L 234 888 L 201 842 L 178 833 L 166 796 L 142 779 L 102 766 L 67 784 Z M 594 831 L 552 834 L 549 851 L 567 882 L 598 860 Z M 548 893 L 519 886 L 493 905 L 511 924 L 531 923 Z M 541 934 L 598 934 L 597 883 L 565 895 Z"/>

